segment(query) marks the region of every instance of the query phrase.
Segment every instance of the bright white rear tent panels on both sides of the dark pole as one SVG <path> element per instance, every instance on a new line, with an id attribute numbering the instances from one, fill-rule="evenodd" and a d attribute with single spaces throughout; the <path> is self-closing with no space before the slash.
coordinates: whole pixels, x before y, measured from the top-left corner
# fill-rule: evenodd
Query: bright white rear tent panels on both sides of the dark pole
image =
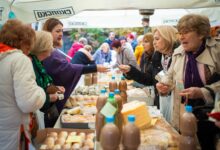
<path id="1" fill-rule="evenodd" d="M 188 14 L 207 15 L 211 25 L 220 25 L 220 8 L 205 9 L 155 9 L 150 16 L 150 27 L 158 25 L 176 25 L 178 20 Z M 138 10 L 83 11 L 67 19 L 61 19 L 64 29 L 71 28 L 124 28 L 142 27 Z"/>

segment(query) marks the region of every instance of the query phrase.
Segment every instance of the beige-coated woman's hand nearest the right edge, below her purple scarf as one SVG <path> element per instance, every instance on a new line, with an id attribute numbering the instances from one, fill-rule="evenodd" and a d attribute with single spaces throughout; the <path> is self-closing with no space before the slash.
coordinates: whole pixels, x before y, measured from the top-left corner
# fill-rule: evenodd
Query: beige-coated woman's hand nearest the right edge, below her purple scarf
<path id="1" fill-rule="evenodd" d="M 190 99 L 204 98 L 202 90 L 199 87 L 190 87 L 182 90 L 180 96 L 185 96 Z"/>

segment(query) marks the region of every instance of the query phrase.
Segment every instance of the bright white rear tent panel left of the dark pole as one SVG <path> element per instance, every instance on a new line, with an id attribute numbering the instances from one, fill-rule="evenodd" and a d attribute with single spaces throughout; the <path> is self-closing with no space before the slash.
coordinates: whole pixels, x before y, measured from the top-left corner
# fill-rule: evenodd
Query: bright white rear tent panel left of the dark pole
<path id="1" fill-rule="evenodd" d="M 83 11 L 61 19 L 64 29 L 142 27 L 138 10 Z"/>

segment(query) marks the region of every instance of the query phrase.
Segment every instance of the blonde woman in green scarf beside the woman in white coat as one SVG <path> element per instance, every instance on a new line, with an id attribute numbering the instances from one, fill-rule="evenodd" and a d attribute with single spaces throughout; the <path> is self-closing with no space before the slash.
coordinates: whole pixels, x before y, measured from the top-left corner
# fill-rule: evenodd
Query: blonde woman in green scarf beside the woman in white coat
<path id="1" fill-rule="evenodd" d="M 54 123 L 57 121 L 59 113 L 53 104 L 65 91 L 64 87 L 53 85 L 52 78 L 46 73 L 46 70 L 42 65 L 42 61 L 50 56 L 52 50 L 52 35 L 46 31 L 36 31 L 36 42 L 31 49 L 31 54 L 29 56 L 32 59 L 37 84 L 42 87 L 46 93 L 46 102 L 41 108 L 41 111 L 44 112 L 45 127 L 53 127 Z"/>

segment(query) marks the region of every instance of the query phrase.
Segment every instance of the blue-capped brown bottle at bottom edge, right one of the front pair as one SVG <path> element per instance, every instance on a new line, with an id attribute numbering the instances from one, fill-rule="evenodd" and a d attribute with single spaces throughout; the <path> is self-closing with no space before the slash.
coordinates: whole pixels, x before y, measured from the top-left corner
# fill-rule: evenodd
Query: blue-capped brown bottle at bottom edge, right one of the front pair
<path id="1" fill-rule="evenodd" d="M 140 129 L 134 124 L 135 116 L 128 116 L 128 123 L 124 126 L 122 133 L 122 144 L 124 150 L 137 150 L 140 140 Z"/>

